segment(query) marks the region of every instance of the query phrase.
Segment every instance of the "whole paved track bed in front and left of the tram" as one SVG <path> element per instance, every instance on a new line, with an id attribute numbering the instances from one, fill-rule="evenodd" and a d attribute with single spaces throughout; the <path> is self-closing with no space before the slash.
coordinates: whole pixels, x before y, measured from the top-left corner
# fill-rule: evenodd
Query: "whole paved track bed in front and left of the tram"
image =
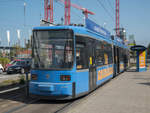
<path id="1" fill-rule="evenodd" d="M 0 109 L 2 109 L 0 113 L 25 113 L 23 112 L 24 109 L 27 110 L 27 113 L 38 113 L 37 111 L 40 111 L 39 108 L 45 110 L 45 113 L 60 113 L 77 101 L 78 99 L 69 101 L 49 101 L 26 98 L 25 87 L 22 87 L 17 90 L 0 93 Z M 40 104 L 42 105 L 40 106 Z M 28 107 L 30 109 L 30 106 L 31 108 L 34 106 L 35 110 L 28 111 Z"/>

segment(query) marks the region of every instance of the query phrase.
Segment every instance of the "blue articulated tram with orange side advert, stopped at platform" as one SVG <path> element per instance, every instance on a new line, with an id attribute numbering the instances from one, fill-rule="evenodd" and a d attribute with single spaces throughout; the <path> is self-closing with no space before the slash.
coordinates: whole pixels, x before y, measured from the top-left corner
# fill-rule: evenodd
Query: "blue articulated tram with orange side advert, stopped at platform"
<path id="1" fill-rule="evenodd" d="M 31 97 L 77 98 L 127 68 L 127 46 L 91 20 L 85 22 L 86 27 L 40 26 L 33 29 Z"/>

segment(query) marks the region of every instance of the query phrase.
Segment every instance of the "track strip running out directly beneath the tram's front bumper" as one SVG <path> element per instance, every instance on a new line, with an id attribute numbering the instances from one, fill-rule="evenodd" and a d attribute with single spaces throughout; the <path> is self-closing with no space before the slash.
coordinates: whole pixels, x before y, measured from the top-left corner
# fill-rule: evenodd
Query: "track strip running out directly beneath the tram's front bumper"
<path id="1" fill-rule="evenodd" d="M 74 100 L 69 101 L 49 101 L 32 99 L 26 104 L 18 105 L 2 113 L 60 113 L 63 109 L 66 109 Z M 31 110 L 30 110 L 31 109 Z"/>

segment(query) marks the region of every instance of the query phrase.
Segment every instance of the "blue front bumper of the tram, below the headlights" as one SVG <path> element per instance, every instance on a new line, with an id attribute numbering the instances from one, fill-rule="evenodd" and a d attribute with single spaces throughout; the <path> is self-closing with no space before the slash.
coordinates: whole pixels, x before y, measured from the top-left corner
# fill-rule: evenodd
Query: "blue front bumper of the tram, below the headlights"
<path id="1" fill-rule="evenodd" d="M 72 96 L 72 83 L 30 82 L 29 93 L 42 96 Z"/>

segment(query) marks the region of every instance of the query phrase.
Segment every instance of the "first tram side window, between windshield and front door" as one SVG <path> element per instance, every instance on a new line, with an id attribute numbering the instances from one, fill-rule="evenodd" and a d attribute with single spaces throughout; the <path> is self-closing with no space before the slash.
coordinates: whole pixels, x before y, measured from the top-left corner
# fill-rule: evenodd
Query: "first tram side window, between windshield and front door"
<path id="1" fill-rule="evenodd" d="M 85 40 L 81 40 L 83 37 L 76 37 L 76 67 L 77 69 L 87 69 L 87 49 Z"/>

